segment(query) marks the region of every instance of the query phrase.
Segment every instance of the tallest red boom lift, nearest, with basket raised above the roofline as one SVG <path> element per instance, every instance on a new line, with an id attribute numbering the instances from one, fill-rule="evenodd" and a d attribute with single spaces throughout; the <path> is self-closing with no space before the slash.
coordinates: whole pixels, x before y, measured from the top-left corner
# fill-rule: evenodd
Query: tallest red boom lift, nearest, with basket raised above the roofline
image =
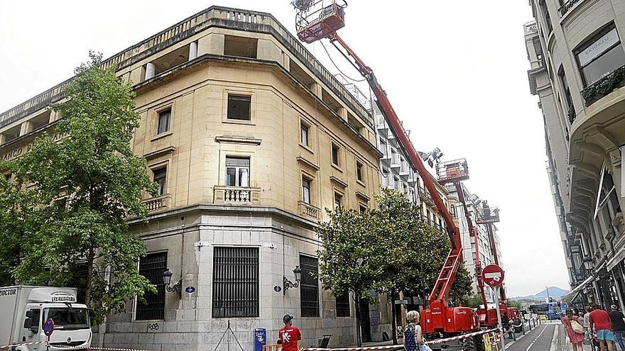
<path id="1" fill-rule="evenodd" d="M 430 192 L 437 211 L 445 221 L 447 235 L 450 237 L 451 249 L 428 299 L 429 308 L 423 311 L 422 314 L 421 320 L 424 331 L 425 333 L 436 332 L 454 334 L 477 330 L 479 329 L 479 321 L 477 319 L 477 314 L 472 308 L 448 307 L 447 305 L 447 299 L 449 298 L 452 284 L 455 280 L 458 268 L 460 267 L 460 263 L 462 262 L 460 230 L 453 221 L 447 206 L 445 206 L 440 198 L 433 177 L 431 177 L 428 170 L 425 169 L 423 160 L 421 160 L 419 153 L 415 150 L 411 140 L 408 138 L 408 133 L 403 129 L 397 113 L 393 109 L 391 102 L 388 101 L 386 92 L 376 79 L 373 70 L 366 65 L 336 33 L 336 30 L 344 26 L 343 8 L 347 6 L 347 4 L 339 6 L 336 1 L 332 1 L 330 6 L 323 6 L 320 10 L 310 12 L 313 13 L 312 15 L 305 16 L 305 13 L 308 13 L 311 6 L 319 4 L 322 5 L 322 1 L 293 1 L 293 6 L 299 9 L 298 23 L 296 23 L 298 27 L 298 37 L 306 43 L 312 43 L 323 38 L 330 39 L 332 45 L 335 45 L 335 48 L 337 48 L 337 50 L 358 69 L 366 81 L 369 82 L 369 87 L 371 87 L 371 91 L 373 91 L 376 96 L 376 103 L 382 113 L 384 113 L 386 121 L 391 127 L 391 131 L 403 147 L 403 150 L 406 150 L 408 158 L 423 179 L 425 188 Z M 337 43 L 340 47 L 337 46 Z M 442 179 L 444 182 L 457 182 L 460 184 L 460 181 L 468 179 L 467 162 L 464 160 L 457 160 L 455 164 L 448 163 L 446 170 L 449 172 L 445 172 L 443 178 L 441 178 L 439 174 L 439 179 Z"/>

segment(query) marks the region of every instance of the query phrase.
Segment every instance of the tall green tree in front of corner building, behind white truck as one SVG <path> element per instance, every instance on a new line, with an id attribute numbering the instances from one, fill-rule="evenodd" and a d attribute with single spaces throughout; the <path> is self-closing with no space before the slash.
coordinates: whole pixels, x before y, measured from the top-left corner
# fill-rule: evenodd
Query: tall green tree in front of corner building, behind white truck
<path id="1" fill-rule="evenodd" d="M 14 277 L 22 284 L 65 285 L 85 267 L 85 303 L 102 321 L 135 294 L 155 290 L 138 273 L 146 247 L 129 233 L 127 218 L 146 216 L 143 194 L 156 188 L 130 146 L 139 123 L 131 84 L 103 69 L 102 55 L 89 57 L 75 70 L 67 101 L 52 106 L 62 116 L 55 133 L 67 138 L 44 133 L 6 167 L 16 174 L 15 186 L 31 189 L 24 203 L 48 215 L 37 230 L 25 223 L 29 232 L 21 238 Z M 26 209 L 21 216 L 28 216 Z"/>

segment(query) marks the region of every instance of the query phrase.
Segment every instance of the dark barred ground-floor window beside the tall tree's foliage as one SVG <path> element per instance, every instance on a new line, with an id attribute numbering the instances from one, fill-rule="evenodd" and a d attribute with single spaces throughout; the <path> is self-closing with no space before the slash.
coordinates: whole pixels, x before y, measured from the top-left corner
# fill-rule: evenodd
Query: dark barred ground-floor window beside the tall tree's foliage
<path id="1" fill-rule="evenodd" d="M 146 302 L 137 301 L 136 320 L 151 321 L 163 319 L 165 316 L 165 284 L 163 272 L 167 269 L 167 252 L 156 252 L 141 257 L 139 260 L 139 274 L 146 277 L 151 284 L 156 285 L 156 294 L 146 291 Z"/>

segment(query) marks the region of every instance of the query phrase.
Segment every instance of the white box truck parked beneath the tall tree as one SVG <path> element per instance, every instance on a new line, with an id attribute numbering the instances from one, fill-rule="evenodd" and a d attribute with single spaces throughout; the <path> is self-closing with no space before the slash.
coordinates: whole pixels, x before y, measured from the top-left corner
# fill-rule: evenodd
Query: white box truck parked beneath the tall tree
<path id="1" fill-rule="evenodd" d="M 45 351 L 43 323 L 51 318 L 50 351 L 87 349 L 91 346 L 91 318 L 87 306 L 76 303 L 75 288 L 6 286 L 0 288 L 0 346 L 9 350 Z M 4 349 L 3 351 L 6 351 Z"/>

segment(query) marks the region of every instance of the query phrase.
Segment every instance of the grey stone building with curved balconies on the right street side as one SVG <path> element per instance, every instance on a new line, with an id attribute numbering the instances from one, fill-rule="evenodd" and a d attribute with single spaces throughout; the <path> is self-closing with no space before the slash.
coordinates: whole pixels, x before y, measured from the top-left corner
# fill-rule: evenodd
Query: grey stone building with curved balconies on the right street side
<path id="1" fill-rule="evenodd" d="M 543 114 L 569 297 L 624 308 L 625 2 L 530 5 L 528 79 Z"/>

